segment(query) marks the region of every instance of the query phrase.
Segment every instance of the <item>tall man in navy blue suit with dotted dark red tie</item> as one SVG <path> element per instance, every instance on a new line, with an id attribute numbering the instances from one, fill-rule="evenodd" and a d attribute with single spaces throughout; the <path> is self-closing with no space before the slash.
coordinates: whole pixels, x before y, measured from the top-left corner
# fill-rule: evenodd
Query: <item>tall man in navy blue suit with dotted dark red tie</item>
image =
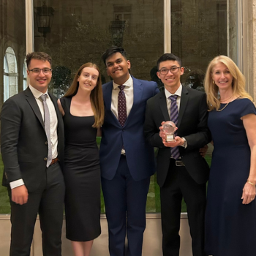
<path id="1" fill-rule="evenodd" d="M 159 92 L 157 83 L 129 75 L 131 64 L 123 48 L 105 51 L 102 60 L 113 81 L 102 86 L 105 120 L 99 150 L 102 191 L 108 219 L 111 256 L 142 253 L 146 198 L 154 174 L 154 148 L 143 135 L 146 101 Z"/>

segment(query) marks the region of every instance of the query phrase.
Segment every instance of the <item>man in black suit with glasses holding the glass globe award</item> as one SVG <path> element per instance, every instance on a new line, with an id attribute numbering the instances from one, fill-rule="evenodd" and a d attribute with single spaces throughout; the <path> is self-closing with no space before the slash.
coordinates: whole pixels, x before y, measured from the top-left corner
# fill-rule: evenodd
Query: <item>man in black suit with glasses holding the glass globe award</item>
<path id="1" fill-rule="evenodd" d="M 192 252 L 204 253 L 204 213 L 209 167 L 200 156 L 211 135 L 207 127 L 206 94 L 181 85 L 181 59 L 165 53 L 157 61 L 157 76 L 165 90 L 148 99 L 144 132 L 151 146 L 158 147 L 157 182 L 162 215 L 162 252 L 178 256 L 180 249 L 181 200 L 187 203 Z M 174 141 L 166 138 L 162 125 L 176 124 Z M 160 132 L 159 132 L 160 130 Z"/>

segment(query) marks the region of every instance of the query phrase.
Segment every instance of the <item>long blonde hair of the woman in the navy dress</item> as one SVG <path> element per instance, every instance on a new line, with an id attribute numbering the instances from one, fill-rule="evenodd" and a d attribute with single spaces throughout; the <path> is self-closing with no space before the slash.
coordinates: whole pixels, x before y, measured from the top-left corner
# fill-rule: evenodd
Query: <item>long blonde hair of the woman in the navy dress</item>
<path id="1" fill-rule="evenodd" d="M 233 96 L 239 98 L 248 98 L 252 100 L 252 97 L 245 91 L 245 78 L 241 71 L 236 66 L 235 62 L 227 56 L 220 55 L 215 57 L 209 64 L 206 71 L 206 77 L 204 80 L 204 86 L 207 94 L 207 104 L 209 111 L 218 110 L 220 108 L 220 102 L 218 99 L 218 86 L 212 79 L 212 72 L 214 67 L 219 64 L 225 64 L 230 74 L 233 76 L 232 91 Z"/>

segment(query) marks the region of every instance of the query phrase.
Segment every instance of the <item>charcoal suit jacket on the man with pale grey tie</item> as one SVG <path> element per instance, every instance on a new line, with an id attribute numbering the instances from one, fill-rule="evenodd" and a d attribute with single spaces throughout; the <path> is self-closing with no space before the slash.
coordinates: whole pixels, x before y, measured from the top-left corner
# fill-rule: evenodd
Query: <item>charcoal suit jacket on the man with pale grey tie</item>
<path id="1" fill-rule="evenodd" d="M 57 99 L 49 93 L 58 117 L 58 157 L 64 165 L 64 126 Z M 45 180 L 48 144 L 42 114 L 29 87 L 7 99 L 1 110 L 3 185 L 23 178 L 29 192 Z"/>

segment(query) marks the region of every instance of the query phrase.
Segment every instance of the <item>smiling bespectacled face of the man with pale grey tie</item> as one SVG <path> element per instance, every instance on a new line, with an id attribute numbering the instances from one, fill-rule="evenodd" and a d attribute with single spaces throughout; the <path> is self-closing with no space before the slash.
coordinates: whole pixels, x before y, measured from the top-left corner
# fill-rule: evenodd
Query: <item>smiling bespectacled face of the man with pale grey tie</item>
<path id="1" fill-rule="evenodd" d="M 39 59 L 31 59 L 28 69 L 50 69 L 50 63 L 48 61 L 41 61 Z M 48 74 L 44 74 L 42 70 L 40 70 L 39 74 L 35 74 L 32 71 L 27 70 L 28 77 L 30 79 L 30 85 L 41 91 L 43 94 L 47 91 L 48 84 L 50 83 L 50 79 L 52 77 L 52 72 L 48 72 Z"/>

